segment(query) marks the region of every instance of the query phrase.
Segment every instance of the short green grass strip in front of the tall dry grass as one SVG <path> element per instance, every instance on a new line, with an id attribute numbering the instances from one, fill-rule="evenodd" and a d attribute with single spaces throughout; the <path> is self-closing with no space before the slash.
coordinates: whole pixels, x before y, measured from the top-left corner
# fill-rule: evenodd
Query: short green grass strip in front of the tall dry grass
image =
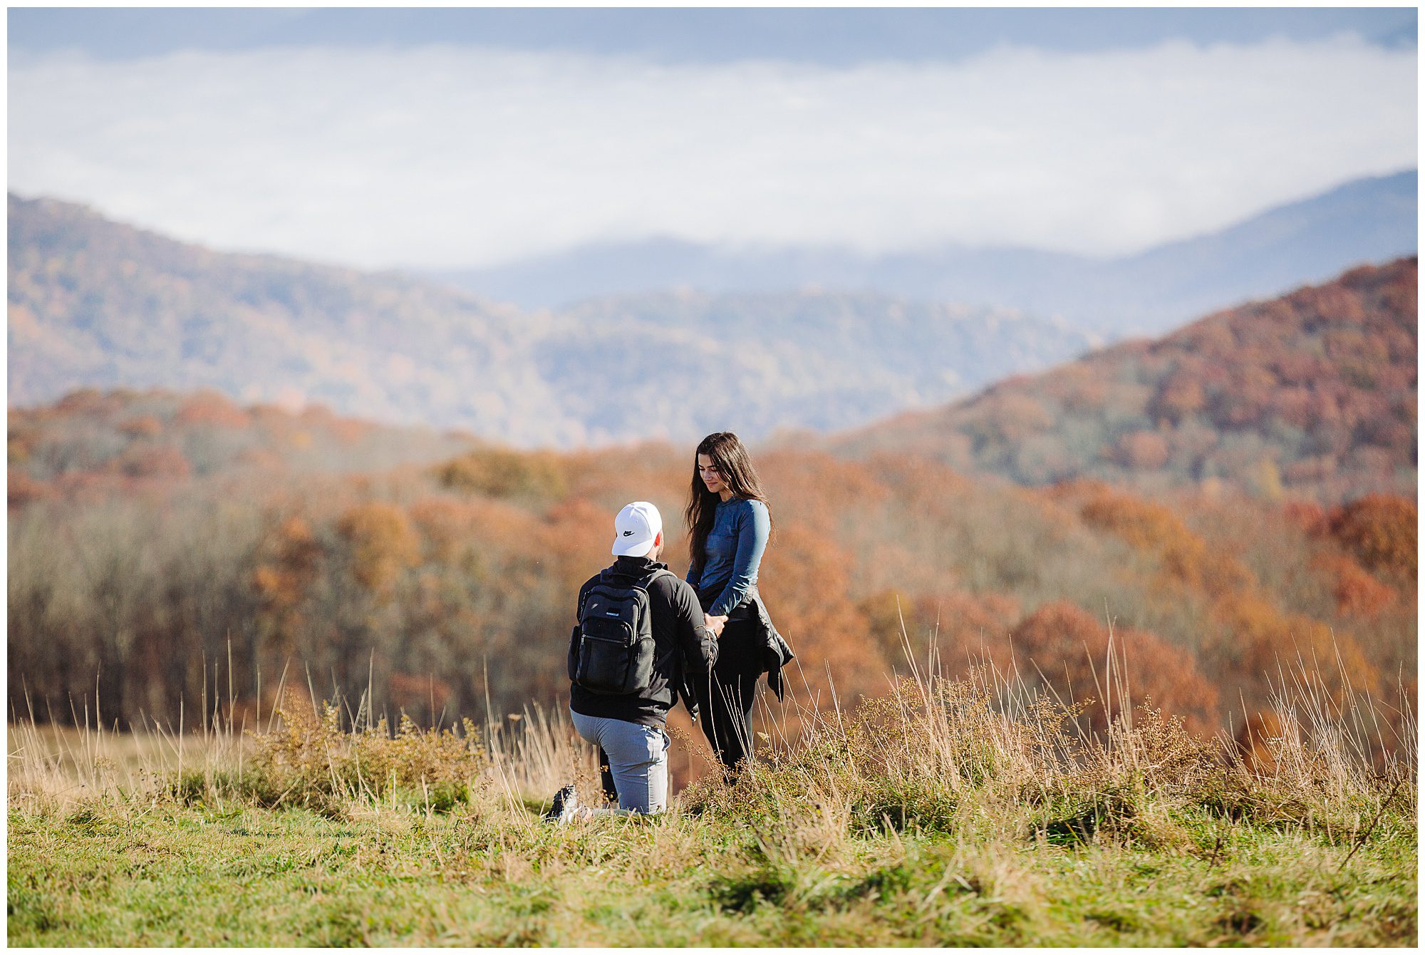
<path id="1" fill-rule="evenodd" d="M 1416 828 L 1102 835 L 113 805 L 9 817 L 11 945 L 1412 945 Z M 1342 867 L 1342 862 L 1345 865 Z"/>

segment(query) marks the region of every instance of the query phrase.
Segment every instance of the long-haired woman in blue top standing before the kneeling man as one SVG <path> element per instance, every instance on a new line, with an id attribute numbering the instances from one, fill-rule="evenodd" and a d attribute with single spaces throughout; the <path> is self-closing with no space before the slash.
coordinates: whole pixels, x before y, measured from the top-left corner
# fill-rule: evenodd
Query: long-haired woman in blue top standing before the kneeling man
<path id="1" fill-rule="evenodd" d="M 752 753 L 757 678 L 768 671 L 771 621 L 757 596 L 757 569 L 772 530 L 767 495 L 737 435 L 717 432 L 698 445 L 685 516 L 688 583 L 718 634 L 711 678 L 695 680 L 703 733 L 722 765 L 735 770 Z M 775 630 L 771 634 L 781 641 Z"/>

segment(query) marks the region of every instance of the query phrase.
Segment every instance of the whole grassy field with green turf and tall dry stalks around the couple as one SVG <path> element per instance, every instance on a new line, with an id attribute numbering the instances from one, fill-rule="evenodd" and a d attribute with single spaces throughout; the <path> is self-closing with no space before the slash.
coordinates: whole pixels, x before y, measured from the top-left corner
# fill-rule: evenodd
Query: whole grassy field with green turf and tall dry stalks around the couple
<path id="1" fill-rule="evenodd" d="M 906 681 L 802 714 L 737 787 L 567 827 L 539 800 L 587 795 L 589 753 L 539 714 L 353 731 L 289 704 L 181 773 L 175 740 L 125 764 L 104 750 L 145 747 L 13 724 L 9 942 L 1414 945 L 1414 744 L 1285 711 L 1248 771 L 1151 711 L 1090 740 L 1005 684 Z"/>

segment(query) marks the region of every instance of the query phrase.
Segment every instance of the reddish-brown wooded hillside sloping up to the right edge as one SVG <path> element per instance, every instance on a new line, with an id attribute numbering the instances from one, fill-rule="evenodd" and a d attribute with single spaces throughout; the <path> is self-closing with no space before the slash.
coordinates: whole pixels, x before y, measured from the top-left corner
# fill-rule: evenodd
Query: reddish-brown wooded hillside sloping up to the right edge
<path id="1" fill-rule="evenodd" d="M 1416 285 L 1414 257 L 1358 268 L 832 445 L 922 453 L 1026 485 L 1412 495 Z"/>

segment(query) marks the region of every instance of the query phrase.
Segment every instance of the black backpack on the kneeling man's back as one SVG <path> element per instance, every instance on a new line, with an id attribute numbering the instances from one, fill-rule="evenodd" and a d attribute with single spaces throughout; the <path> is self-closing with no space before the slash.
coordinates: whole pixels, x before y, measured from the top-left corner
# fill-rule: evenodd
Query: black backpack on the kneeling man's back
<path id="1" fill-rule="evenodd" d="M 637 582 L 611 580 L 607 570 L 589 589 L 569 649 L 569 678 L 590 693 L 631 696 L 653 686 L 653 610 L 648 584 L 658 567 Z"/>

